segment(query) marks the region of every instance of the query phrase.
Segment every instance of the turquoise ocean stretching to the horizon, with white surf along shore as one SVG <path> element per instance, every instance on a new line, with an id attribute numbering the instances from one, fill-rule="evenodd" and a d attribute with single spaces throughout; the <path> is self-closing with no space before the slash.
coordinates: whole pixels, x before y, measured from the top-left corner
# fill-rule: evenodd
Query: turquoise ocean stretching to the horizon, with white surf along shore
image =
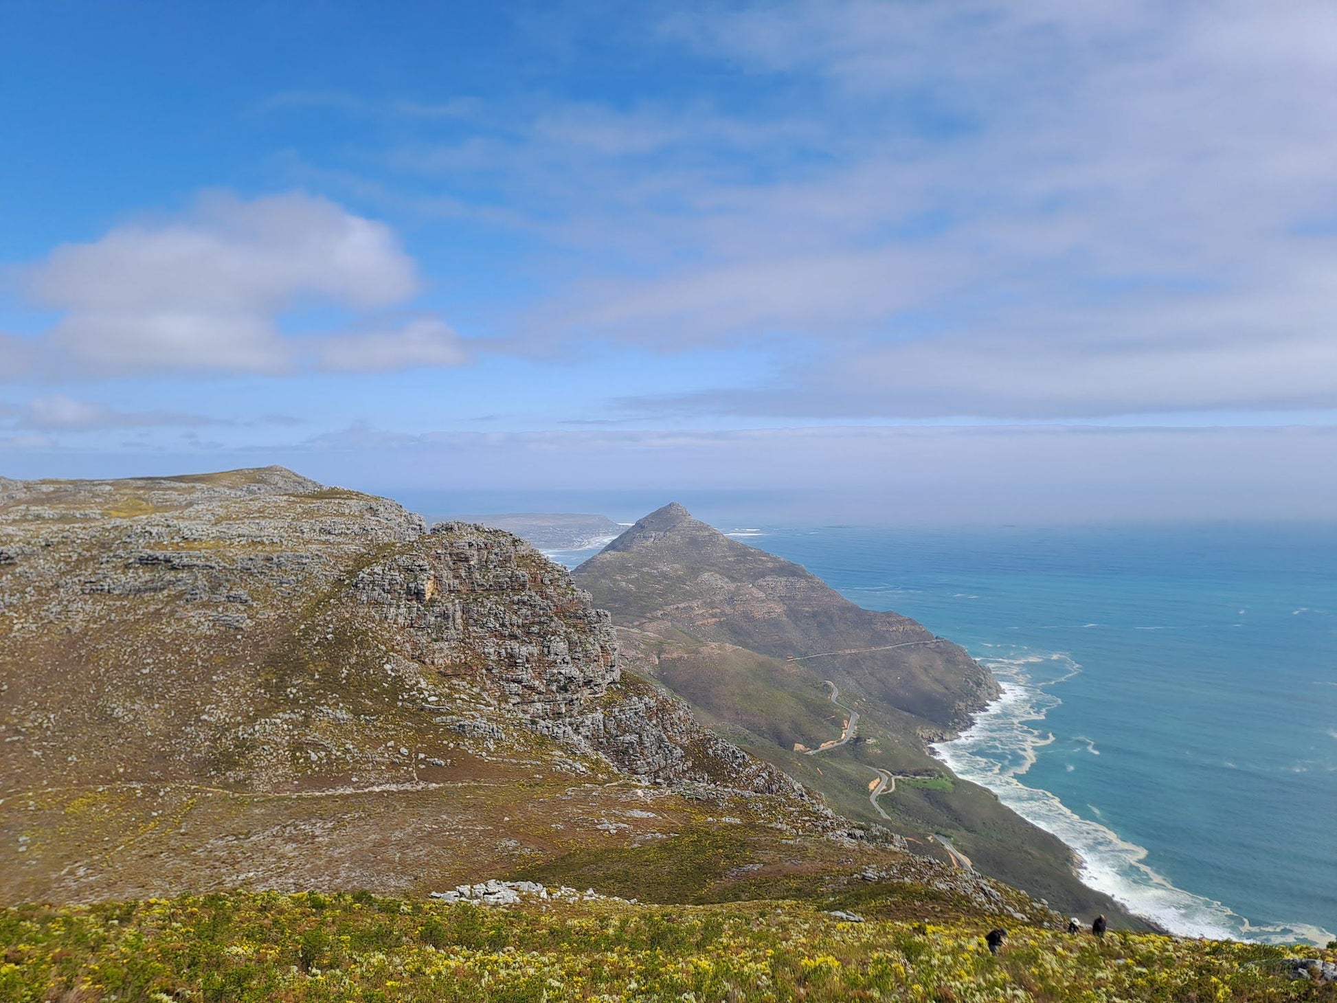
<path id="1" fill-rule="evenodd" d="M 939 754 L 1087 884 L 1182 935 L 1337 936 L 1337 527 L 713 522 L 989 666 Z"/>

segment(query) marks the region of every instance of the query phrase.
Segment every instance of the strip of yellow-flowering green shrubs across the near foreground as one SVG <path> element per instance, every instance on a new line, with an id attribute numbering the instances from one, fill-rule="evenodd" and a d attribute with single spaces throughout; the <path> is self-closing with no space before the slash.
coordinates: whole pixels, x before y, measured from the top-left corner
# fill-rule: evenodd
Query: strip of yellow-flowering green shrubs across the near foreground
<path id="1" fill-rule="evenodd" d="M 507 908 L 230 893 L 0 911 L 0 1000 L 1333 1000 L 1282 947 L 979 921 L 849 923 L 798 903 Z M 1334 958 L 1309 951 L 1306 956 Z"/>

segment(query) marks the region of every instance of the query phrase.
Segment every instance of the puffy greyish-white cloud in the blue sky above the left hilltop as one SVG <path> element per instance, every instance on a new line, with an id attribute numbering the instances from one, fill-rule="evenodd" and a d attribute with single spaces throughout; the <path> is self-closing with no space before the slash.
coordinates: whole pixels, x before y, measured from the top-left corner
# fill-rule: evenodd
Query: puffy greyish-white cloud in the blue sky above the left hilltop
<path id="1" fill-rule="evenodd" d="M 80 374 L 281 373 L 305 365 L 308 352 L 340 368 L 460 361 L 444 350 L 436 321 L 382 336 L 281 333 L 297 310 L 378 310 L 418 290 L 388 226 L 303 194 L 207 195 L 182 218 L 57 247 L 27 270 L 24 288 L 64 313 L 45 346 Z M 440 330 L 429 337 L 422 325 L 433 324 Z"/>

